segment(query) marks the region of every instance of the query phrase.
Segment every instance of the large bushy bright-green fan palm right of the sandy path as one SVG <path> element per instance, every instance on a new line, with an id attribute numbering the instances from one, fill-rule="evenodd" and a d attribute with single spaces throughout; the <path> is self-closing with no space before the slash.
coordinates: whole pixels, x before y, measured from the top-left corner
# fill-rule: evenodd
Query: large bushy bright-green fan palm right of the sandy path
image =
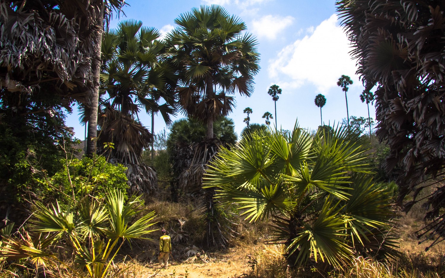
<path id="1" fill-rule="evenodd" d="M 367 175 L 365 140 L 338 127 L 254 133 L 220 151 L 204 184 L 221 203 L 238 204 L 246 219 L 271 218 L 274 242 L 285 244 L 289 260 L 300 266 L 395 254 L 387 236 L 390 197 Z"/>

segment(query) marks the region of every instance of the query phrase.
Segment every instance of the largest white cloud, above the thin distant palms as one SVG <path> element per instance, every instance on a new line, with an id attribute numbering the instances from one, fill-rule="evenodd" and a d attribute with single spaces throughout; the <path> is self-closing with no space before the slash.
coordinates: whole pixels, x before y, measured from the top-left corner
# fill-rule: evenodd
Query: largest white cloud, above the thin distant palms
<path id="1" fill-rule="evenodd" d="M 288 88 L 297 88 L 311 83 L 320 93 L 327 93 L 336 87 L 338 78 L 349 75 L 355 84 L 360 84 L 356 72 L 356 62 L 348 52 L 349 41 L 337 24 L 334 14 L 324 20 L 311 33 L 293 44 L 284 47 L 275 60 L 270 60 L 269 76 L 279 79 Z M 278 82 L 278 81 L 277 81 Z"/>

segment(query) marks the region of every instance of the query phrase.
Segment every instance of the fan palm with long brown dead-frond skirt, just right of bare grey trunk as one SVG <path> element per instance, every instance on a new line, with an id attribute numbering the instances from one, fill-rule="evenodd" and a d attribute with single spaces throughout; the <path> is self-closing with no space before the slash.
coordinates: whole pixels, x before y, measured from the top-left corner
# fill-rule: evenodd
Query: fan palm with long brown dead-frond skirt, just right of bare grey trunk
<path id="1" fill-rule="evenodd" d="M 160 35 L 154 28 L 143 27 L 141 21 L 125 20 L 117 30 L 105 33 L 102 43 L 98 141 L 114 143 L 109 158 L 129 167 L 129 182 L 137 191 L 150 192 L 156 184 L 154 170 L 140 161 L 142 150 L 153 138 L 138 113 L 143 109 L 153 117 L 159 112 L 167 124 L 170 115 L 175 114 L 174 97 L 164 90 L 165 69 L 159 62 L 163 44 L 157 40 Z M 165 103 L 159 105 L 161 99 Z"/>

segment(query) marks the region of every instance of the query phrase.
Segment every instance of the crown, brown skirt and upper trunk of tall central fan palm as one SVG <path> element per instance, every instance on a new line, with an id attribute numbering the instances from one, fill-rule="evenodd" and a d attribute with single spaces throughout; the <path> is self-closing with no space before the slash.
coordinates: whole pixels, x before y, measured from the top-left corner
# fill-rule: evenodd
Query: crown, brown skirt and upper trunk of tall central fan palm
<path id="1" fill-rule="evenodd" d="M 187 116 L 206 123 L 207 139 L 212 139 L 213 121 L 235 104 L 231 95 L 249 97 L 254 90 L 257 43 L 244 33 L 242 20 L 218 5 L 192 8 L 174 22 L 178 27 L 166 36 L 166 44 L 182 84 L 179 104 Z"/>

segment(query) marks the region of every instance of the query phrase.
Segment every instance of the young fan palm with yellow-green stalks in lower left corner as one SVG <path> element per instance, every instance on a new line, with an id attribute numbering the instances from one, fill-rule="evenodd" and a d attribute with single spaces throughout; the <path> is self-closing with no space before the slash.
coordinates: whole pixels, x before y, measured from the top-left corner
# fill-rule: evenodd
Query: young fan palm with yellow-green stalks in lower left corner
<path id="1" fill-rule="evenodd" d="M 5 236 L 0 257 L 8 260 L 28 258 L 39 267 L 54 268 L 61 264 L 77 277 L 104 278 L 125 241 L 144 236 L 153 223 L 154 211 L 133 221 L 142 205 L 140 197 L 124 200 L 119 191 L 109 192 L 105 202 L 86 196 L 76 205 L 62 209 L 59 203 L 47 208 L 36 203 L 33 221 L 37 234 L 24 231 L 20 238 Z M 52 250 L 72 250 L 72 264 L 64 262 Z M 86 270 L 86 272 L 85 272 Z"/>

